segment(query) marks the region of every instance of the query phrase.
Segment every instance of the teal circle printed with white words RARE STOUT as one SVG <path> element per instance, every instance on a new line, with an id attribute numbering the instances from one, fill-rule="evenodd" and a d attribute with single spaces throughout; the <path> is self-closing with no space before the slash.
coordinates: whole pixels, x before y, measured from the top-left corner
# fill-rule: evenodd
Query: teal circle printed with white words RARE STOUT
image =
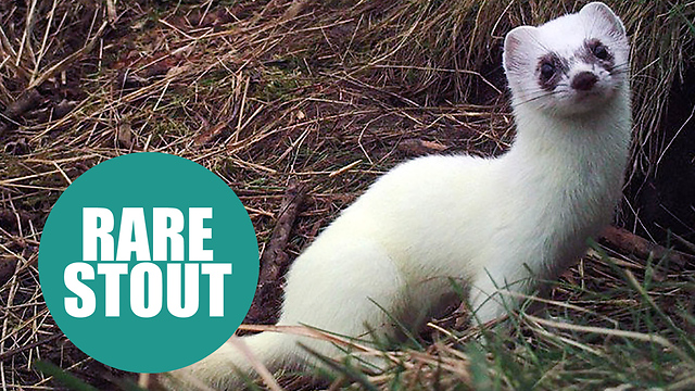
<path id="1" fill-rule="evenodd" d="M 98 211 L 101 217 L 84 217 L 93 216 L 91 211 Z M 172 217 L 163 219 L 162 211 Z M 200 211 L 211 211 L 212 217 L 201 215 Z M 113 215 L 113 229 L 105 234 L 109 213 Z M 181 220 L 180 216 L 184 220 L 178 234 L 176 229 L 169 232 L 174 239 L 166 239 L 166 245 L 161 239 L 165 229 L 157 229 L 157 260 L 153 258 L 155 213 L 160 216 L 157 227 L 172 228 L 175 220 Z M 149 260 L 143 250 L 144 230 L 138 229 L 143 227 L 142 220 Z M 97 231 L 101 237 L 94 236 Z M 113 238 L 113 251 L 109 251 L 106 235 Z M 83 241 L 96 243 L 97 251 L 84 251 Z M 181 249 L 181 241 L 184 251 L 174 251 Z M 195 255 L 200 252 L 192 251 L 200 250 L 201 242 L 204 251 L 212 251 L 212 261 L 204 261 L 206 256 L 201 258 Z M 118 248 L 121 260 L 116 256 Z M 176 257 L 182 254 L 182 261 L 172 260 L 173 252 Z M 85 255 L 92 253 L 96 260 L 85 260 Z M 119 265 L 113 266 L 116 264 Z M 230 274 L 226 264 L 231 264 Z M 93 279 L 88 279 L 90 268 Z M 173 277 L 175 273 L 168 273 L 177 268 L 181 270 L 178 279 Z M 157 275 L 162 281 L 159 289 Z M 215 174 L 175 155 L 134 153 L 98 164 L 63 192 L 41 235 L 39 279 L 55 323 L 81 351 L 123 370 L 168 371 L 204 358 L 239 327 L 258 279 L 258 245 L 245 209 Z M 76 279 L 93 292 L 91 313 L 89 293 L 74 282 Z M 187 299 L 185 292 L 187 287 L 188 292 L 195 291 L 191 288 L 195 279 L 198 308 L 193 312 L 194 300 Z M 212 301 L 211 283 L 217 293 L 219 287 L 224 290 L 224 294 L 214 294 Z M 118 294 L 113 289 L 116 285 Z M 169 288 L 175 287 L 170 292 L 176 292 L 177 286 L 178 298 L 169 293 Z M 138 294 L 140 289 L 144 293 Z M 169 310 L 169 301 L 175 310 Z M 117 316 L 114 308 L 118 308 Z M 182 308 L 186 311 L 181 312 Z M 217 314 L 211 316 L 214 312 Z"/>

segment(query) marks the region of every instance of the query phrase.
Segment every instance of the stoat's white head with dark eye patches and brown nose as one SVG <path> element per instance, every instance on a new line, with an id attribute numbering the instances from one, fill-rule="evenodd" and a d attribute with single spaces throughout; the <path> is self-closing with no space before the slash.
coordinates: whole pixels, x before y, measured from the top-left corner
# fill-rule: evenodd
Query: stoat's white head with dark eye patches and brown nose
<path id="1" fill-rule="evenodd" d="M 582 114 L 629 90 L 626 28 L 604 3 L 507 34 L 504 68 L 514 105 L 551 115 Z"/>

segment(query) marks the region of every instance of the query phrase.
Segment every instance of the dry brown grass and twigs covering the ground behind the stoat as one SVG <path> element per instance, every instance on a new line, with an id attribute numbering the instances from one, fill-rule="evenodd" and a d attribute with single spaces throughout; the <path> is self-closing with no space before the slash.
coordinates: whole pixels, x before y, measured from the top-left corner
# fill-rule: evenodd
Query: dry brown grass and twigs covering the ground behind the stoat
<path id="1" fill-rule="evenodd" d="M 679 134 L 659 126 L 673 84 L 693 67 L 695 7 L 611 5 L 633 40 L 636 136 L 630 178 L 640 187 L 678 142 Z M 111 380 L 122 376 L 62 336 L 38 283 L 43 222 L 61 192 L 91 166 L 140 151 L 195 161 L 240 197 L 262 251 L 278 224 L 286 188 L 296 180 L 306 199 L 285 249 L 293 258 L 338 211 L 404 159 L 503 152 L 513 139 L 500 65 L 504 34 L 577 8 L 574 1 L 551 8 L 540 1 L 468 0 L 0 3 L 3 387 L 54 386 L 33 369 L 37 360 L 99 388 L 113 388 Z M 630 230 L 669 228 L 641 227 L 639 205 L 628 201 L 623 218 L 636 222 Z M 686 253 L 695 251 L 688 224 L 679 237 L 686 261 L 659 274 L 677 281 L 675 288 L 649 292 L 669 314 L 683 302 L 692 314 L 686 299 L 693 261 Z M 644 260 L 611 255 L 644 282 L 650 270 Z M 639 298 L 598 294 L 624 286 L 610 265 L 587 257 L 566 276 L 555 299 L 639 323 L 630 319 Z M 250 320 L 270 323 L 277 300 L 257 298 Z M 452 344 L 433 346 L 413 355 L 463 354 Z M 408 366 L 408 376 L 432 375 L 421 362 L 427 360 Z M 483 384 L 462 376 L 471 387 Z"/>

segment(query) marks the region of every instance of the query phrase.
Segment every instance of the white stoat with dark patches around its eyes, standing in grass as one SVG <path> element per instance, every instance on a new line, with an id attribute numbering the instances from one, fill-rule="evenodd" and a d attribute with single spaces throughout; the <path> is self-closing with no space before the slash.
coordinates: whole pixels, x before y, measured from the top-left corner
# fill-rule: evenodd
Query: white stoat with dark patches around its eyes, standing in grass
<path id="1" fill-rule="evenodd" d="M 497 159 L 428 156 L 377 180 L 298 258 L 278 325 L 308 325 L 371 339 L 391 316 L 417 321 L 469 289 L 479 321 L 506 313 L 505 288 L 530 293 L 556 278 L 609 223 L 631 138 L 629 46 L 620 20 L 594 2 L 504 42 L 517 136 Z M 504 297 L 508 299 L 508 297 Z M 298 342 L 339 358 L 324 341 L 277 332 L 243 337 L 268 368 L 314 363 Z M 172 373 L 233 388 L 244 355 L 227 343 Z"/>

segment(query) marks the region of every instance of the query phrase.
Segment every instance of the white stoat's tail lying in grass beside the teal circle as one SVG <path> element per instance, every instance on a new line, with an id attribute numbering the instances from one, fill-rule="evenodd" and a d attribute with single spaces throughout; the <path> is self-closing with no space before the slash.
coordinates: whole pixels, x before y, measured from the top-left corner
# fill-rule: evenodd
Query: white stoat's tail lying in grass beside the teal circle
<path id="1" fill-rule="evenodd" d="M 248 375 L 251 379 L 257 377 L 249 354 L 274 371 L 282 366 L 296 349 L 295 338 L 281 332 L 266 331 L 232 339 L 237 341 L 226 342 L 202 361 L 165 374 L 159 381 L 169 390 L 239 390 L 243 389 L 244 384 L 240 374 Z M 239 346 L 240 343 L 242 346 Z"/>

